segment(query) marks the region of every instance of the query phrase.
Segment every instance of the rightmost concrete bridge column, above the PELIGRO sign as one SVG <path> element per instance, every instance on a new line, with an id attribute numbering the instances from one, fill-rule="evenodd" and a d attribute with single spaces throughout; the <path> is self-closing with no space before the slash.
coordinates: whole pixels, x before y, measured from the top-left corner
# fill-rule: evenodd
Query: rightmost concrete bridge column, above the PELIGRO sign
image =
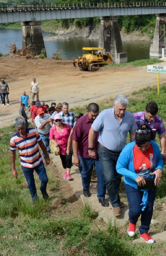
<path id="1" fill-rule="evenodd" d="M 154 30 L 153 44 L 150 46 L 150 56 L 162 57 L 162 48 L 166 48 L 164 32 L 166 26 L 166 14 L 156 14 L 156 26 Z"/>

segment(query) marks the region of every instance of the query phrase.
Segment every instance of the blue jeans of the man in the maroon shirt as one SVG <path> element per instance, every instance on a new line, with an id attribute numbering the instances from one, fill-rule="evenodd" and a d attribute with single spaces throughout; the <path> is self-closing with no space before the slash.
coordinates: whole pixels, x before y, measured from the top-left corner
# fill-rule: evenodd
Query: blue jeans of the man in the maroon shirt
<path id="1" fill-rule="evenodd" d="M 95 164 L 95 170 L 97 174 L 97 196 L 99 199 L 105 198 L 106 195 L 106 185 L 104 180 L 104 174 L 101 168 L 101 163 L 99 158 L 84 158 L 79 156 L 81 163 L 81 177 L 84 189 L 89 189 L 91 183 L 91 173 L 93 170 L 93 164 Z"/>

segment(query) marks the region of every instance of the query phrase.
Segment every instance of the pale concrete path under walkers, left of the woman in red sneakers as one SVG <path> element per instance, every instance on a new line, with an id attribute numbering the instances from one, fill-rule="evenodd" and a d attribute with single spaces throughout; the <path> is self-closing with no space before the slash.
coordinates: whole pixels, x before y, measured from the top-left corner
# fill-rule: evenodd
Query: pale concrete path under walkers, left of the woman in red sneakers
<path id="1" fill-rule="evenodd" d="M 59 156 L 55 156 L 52 153 L 49 154 L 50 158 L 52 159 L 53 163 L 56 165 L 57 169 L 61 173 L 61 176 L 63 177 L 64 175 L 64 169 L 62 167 L 62 163 L 60 160 Z M 82 187 L 82 180 L 81 180 L 81 174 L 75 165 L 72 166 L 71 171 L 70 171 L 71 177 L 73 180 L 67 180 L 68 183 L 70 184 L 71 188 L 73 188 L 73 191 L 75 195 L 78 197 L 78 199 L 81 199 L 83 204 L 85 202 L 88 202 L 89 204 L 92 205 L 93 209 L 97 212 L 99 212 L 99 218 L 103 218 L 103 220 L 108 223 L 109 221 L 114 222 L 115 220 L 117 221 L 118 225 L 124 225 L 126 221 L 128 220 L 128 206 L 125 205 L 125 207 L 121 208 L 121 215 L 118 217 L 115 217 L 113 215 L 113 208 L 112 205 L 109 203 L 108 207 L 103 207 L 97 197 L 97 188 L 91 187 L 90 186 L 90 193 L 91 197 L 85 197 L 83 195 L 83 187 Z M 108 200 L 108 196 L 106 195 L 106 199 Z"/>

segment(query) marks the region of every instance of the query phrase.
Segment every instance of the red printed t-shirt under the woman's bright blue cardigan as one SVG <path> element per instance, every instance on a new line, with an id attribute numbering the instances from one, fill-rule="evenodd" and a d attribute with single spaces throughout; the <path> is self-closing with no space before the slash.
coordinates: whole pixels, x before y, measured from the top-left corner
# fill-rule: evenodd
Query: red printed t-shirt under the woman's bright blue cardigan
<path id="1" fill-rule="evenodd" d="M 147 178 L 149 173 L 154 170 L 154 151 L 152 145 L 150 144 L 150 147 L 145 152 L 142 152 L 135 145 L 133 148 L 133 162 L 136 173 L 139 176 L 143 176 L 143 178 Z"/>

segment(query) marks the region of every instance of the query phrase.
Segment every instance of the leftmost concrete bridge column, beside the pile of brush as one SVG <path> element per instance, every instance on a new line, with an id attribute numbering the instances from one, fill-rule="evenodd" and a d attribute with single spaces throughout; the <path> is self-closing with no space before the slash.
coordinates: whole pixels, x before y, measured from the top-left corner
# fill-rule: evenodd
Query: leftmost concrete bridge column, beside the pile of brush
<path id="1" fill-rule="evenodd" d="M 22 25 L 22 48 L 27 47 L 29 44 L 32 51 L 40 54 L 41 50 L 45 48 L 44 40 L 41 30 L 41 21 L 23 21 Z"/>

